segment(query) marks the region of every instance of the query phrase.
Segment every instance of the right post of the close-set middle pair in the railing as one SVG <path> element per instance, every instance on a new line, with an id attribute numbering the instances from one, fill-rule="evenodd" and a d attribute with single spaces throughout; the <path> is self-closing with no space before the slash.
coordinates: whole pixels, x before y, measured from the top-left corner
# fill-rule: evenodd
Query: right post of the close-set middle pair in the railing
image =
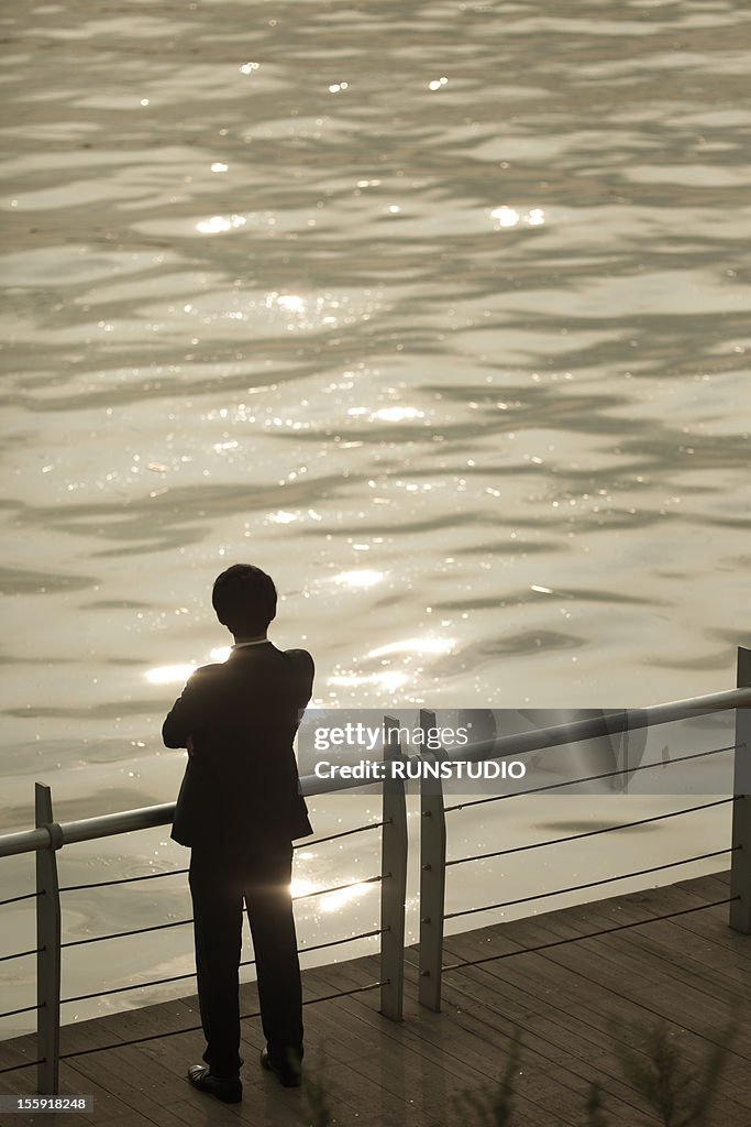
<path id="1" fill-rule="evenodd" d="M 420 709 L 422 747 L 427 733 L 436 728 L 436 713 Z M 424 752 L 422 758 L 437 763 L 438 756 Z M 441 967 L 444 961 L 444 903 L 446 898 L 446 814 L 440 779 L 420 781 L 420 1005 L 440 1011 Z"/>

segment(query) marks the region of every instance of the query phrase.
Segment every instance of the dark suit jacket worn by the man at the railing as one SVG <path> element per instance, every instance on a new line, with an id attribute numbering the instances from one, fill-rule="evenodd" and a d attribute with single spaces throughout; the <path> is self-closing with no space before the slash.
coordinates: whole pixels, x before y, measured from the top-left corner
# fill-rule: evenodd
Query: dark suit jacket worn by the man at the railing
<path id="1" fill-rule="evenodd" d="M 180 787 L 172 837 L 258 858 L 312 834 L 293 740 L 313 691 L 313 658 L 272 642 L 232 650 L 190 676 L 162 727 L 168 747 L 194 753 Z"/>

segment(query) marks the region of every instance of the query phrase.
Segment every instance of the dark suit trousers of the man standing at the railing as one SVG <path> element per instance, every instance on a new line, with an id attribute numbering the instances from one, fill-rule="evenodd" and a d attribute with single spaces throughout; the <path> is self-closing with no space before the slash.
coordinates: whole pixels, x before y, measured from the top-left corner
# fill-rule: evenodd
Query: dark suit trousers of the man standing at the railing
<path id="1" fill-rule="evenodd" d="M 215 849 L 194 846 L 193 896 L 204 1061 L 216 1076 L 240 1068 L 239 965 L 243 903 L 253 940 L 261 1023 L 270 1058 L 284 1063 L 303 1055 L 303 1011 L 297 938 L 289 881 L 289 841 L 265 845 L 257 858 L 239 861 Z"/>

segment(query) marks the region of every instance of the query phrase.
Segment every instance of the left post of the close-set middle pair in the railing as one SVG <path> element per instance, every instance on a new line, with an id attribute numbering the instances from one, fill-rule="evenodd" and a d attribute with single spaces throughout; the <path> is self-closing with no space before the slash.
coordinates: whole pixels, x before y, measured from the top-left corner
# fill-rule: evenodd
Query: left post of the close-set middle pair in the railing
<path id="1" fill-rule="evenodd" d="M 383 718 L 384 762 L 401 760 L 399 720 Z M 402 1020 L 404 996 L 404 906 L 406 900 L 406 799 L 404 780 L 383 782 L 381 845 L 381 1012 Z"/>

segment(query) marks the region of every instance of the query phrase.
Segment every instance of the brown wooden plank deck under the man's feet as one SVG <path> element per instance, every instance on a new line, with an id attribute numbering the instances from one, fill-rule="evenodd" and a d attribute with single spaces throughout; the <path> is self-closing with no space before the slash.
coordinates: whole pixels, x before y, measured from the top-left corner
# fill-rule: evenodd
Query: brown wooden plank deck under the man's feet
<path id="1" fill-rule="evenodd" d="M 667 888 L 551 912 L 452 935 L 445 962 L 517 950 L 651 916 L 680 912 L 728 896 L 726 873 Z M 509 1035 L 524 1039 L 513 1127 L 561 1124 L 581 1127 L 592 1082 L 605 1093 L 608 1122 L 636 1127 L 661 1122 L 624 1080 L 614 1051 L 628 1044 L 633 1022 L 663 1019 L 692 1071 L 716 1042 L 739 1001 L 751 1001 L 751 937 L 727 928 L 727 905 L 673 921 L 655 922 L 598 939 L 448 971 L 444 1009 L 417 1004 L 417 953 L 406 952 L 405 1020 L 395 1024 L 377 1012 L 378 992 L 336 1001 L 314 1000 L 373 983 L 375 957 L 304 973 L 307 1072 L 325 1050 L 337 1127 L 468 1127 L 474 1120 L 452 1106 L 466 1090 L 489 1089 L 499 1076 Z M 254 1010 L 252 984 L 243 986 L 243 1012 Z M 195 996 L 113 1014 L 62 1030 L 71 1053 L 198 1023 Z M 243 1022 L 243 1101 L 226 1106 L 194 1091 L 185 1079 L 200 1059 L 200 1033 L 182 1033 L 143 1045 L 64 1061 L 62 1091 L 93 1093 L 95 1111 L 65 1121 L 114 1127 L 301 1127 L 305 1099 L 262 1073 L 263 1044 L 257 1018 Z M 0 1044 L 0 1067 L 34 1056 L 34 1039 Z M 36 1070 L 0 1075 L 0 1092 L 33 1094 Z M 557 1118 L 556 1118 L 557 1117 Z M 59 1121 L 60 1116 L 52 1121 Z M 47 1116 L 14 1113 L 10 1127 L 48 1124 Z M 733 1042 L 713 1121 L 727 1127 L 751 1122 L 751 1021 L 746 1013 Z"/>

